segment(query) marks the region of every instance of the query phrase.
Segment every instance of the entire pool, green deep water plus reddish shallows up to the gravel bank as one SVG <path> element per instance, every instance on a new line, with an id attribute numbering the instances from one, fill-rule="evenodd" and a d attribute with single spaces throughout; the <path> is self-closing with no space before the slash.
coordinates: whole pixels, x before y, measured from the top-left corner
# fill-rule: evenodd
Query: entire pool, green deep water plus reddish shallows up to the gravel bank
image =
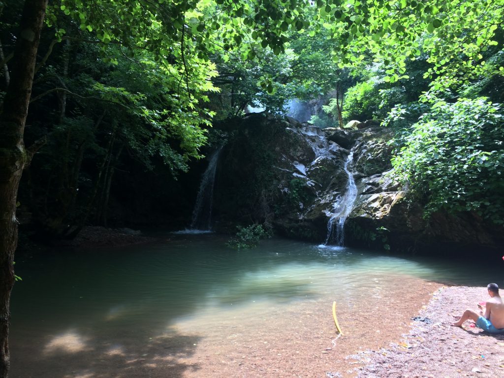
<path id="1" fill-rule="evenodd" d="M 327 376 L 343 355 L 398 340 L 438 283 L 501 283 L 497 264 L 467 258 L 165 239 L 18 256 L 10 377 Z"/>

